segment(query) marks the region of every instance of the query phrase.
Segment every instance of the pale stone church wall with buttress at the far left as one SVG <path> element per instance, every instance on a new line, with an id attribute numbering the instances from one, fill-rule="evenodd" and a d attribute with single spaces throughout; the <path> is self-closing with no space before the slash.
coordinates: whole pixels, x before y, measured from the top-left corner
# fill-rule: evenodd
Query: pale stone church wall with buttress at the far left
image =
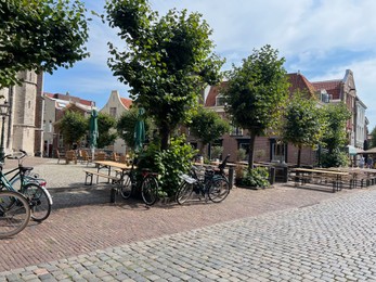
<path id="1" fill-rule="evenodd" d="M 40 155 L 43 136 L 43 76 L 27 70 L 21 72 L 18 78 L 24 80 L 22 86 L 0 90 L 0 95 L 4 97 L 0 103 L 7 101 L 10 105 L 9 115 L 4 117 L 3 148 L 5 154 L 24 150 L 29 155 Z M 2 123 L 0 128 L 2 130 Z"/>

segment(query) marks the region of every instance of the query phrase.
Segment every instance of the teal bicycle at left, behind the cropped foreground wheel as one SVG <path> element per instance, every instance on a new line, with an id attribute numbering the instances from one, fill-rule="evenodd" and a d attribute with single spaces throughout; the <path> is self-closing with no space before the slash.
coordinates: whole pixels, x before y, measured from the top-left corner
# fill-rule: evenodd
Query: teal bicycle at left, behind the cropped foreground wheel
<path id="1" fill-rule="evenodd" d="M 52 197 L 46 189 L 47 181 L 37 175 L 30 175 L 30 171 L 34 169 L 33 167 L 23 166 L 23 158 L 27 156 L 27 153 L 23 150 L 20 150 L 20 152 L 21 155 L 5 156 L 7 158 L 17 159 L 18 166 L 7 172 L 1 170 L 1 182 L 4 183 L 7 181 L 9 184 L 2 184 L 1 187 L 9 191 L 22 193 L 29 203 L 31 219 L 41 222 L 51 214 Z"/>

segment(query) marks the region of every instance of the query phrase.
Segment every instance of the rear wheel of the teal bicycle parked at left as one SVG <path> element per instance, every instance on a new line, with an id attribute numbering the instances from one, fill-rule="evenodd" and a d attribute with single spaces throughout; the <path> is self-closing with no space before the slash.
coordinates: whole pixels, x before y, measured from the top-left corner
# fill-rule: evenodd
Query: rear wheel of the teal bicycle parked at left
<path id="1" fill-rule="evenodd" d="M 51 202 L 46 191 L 36 183 L 28 183 L 22 193 L 29 201 L 31 219 L 38 222 L 46 220 L 51 214 Z"/>

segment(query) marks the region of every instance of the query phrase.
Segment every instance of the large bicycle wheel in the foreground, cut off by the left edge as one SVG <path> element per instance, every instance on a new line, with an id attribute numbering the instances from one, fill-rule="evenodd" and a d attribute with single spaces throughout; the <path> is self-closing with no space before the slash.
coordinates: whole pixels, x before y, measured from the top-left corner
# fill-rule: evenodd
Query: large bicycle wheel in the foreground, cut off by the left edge
<path id="1" fill-rule="evenodd" d="M 13 236 L 30 220 L 27 200 L 13 191 L 0 191 L 0 239 Z"/>

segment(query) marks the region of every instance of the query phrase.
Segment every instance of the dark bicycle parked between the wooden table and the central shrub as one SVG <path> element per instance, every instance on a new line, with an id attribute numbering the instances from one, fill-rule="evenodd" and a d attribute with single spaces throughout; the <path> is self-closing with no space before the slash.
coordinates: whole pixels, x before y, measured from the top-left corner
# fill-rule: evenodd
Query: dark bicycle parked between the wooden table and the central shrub
<path id="1" fill-rule="evenodd" d="M 158 200 L 157 174 L 151 172 L 150 169 L 142 169 L 140 175 L 140 171 L 134 168 L 133 161 L 130 170 L 124 176 L 120 194 L 124 198 L 129 198 L 138 191 L 141 191 L 142 200 L 148 206 L 154 205 Z"/>

